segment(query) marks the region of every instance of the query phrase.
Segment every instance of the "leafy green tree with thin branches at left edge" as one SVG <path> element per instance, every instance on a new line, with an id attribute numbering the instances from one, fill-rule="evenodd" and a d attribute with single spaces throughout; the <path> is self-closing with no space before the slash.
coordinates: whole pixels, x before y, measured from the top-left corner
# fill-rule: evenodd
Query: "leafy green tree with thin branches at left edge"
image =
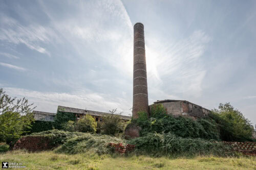
<path id="1" fill-rule="evenodd" d="M 28 100 L 12 98 L 0 88 L 0 141 L 17 140 L 27 132 L 34 121 L 31 111 L 35 108 L 28 104 Z"/>

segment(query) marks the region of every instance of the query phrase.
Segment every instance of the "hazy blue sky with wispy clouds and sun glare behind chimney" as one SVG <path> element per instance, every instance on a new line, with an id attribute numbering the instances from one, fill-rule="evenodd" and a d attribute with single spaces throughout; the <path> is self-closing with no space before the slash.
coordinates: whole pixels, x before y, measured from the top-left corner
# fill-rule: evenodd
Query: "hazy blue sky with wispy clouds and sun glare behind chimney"
<path id="1" fill-rule="evenodd" d="M 0 87 L 35 110 L 132 112 L 133 26 L 148 100 L 229 102 L 256 124 L 256 1 L 0 1 Z"/>

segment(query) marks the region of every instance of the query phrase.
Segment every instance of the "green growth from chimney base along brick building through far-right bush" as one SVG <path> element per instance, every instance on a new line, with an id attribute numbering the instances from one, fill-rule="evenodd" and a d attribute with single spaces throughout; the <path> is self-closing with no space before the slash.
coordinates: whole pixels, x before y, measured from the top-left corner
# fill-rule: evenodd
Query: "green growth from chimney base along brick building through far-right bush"
<path id="1" fill-rule="evenodd" d="M 250 121 L 229 103 L 220 104 L 209 116 L 193 120 L 182 116 L 166 114 L 161 104 L 151 108 L 151 117 L 139 112 L 139 118 L 132 123 L 141 127 L 140 135 L 147 133 L 173 133 L 183 138 L 202 138 L 225 141 L 251 141 Z"/>

